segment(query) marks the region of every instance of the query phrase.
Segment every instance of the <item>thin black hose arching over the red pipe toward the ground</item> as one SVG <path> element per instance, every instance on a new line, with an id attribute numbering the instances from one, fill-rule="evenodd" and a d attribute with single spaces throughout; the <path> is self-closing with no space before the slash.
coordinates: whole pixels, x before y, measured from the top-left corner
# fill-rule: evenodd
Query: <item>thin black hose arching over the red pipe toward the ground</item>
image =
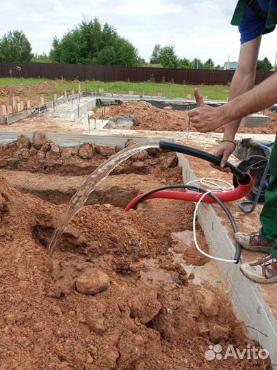
<path id="1" fill-rule="evenodd" d="M 144 201 L 145 199 L 147 199 L 150 195 L 153 195 L 161 190 L 168 190 L 168 189 L 174 189 L 174 188 L 185 188 L 185 189 L 189 189 L 189 190 L 194 190 L 194 191 L 198 191 L 198 193 L 207 193 L 207 189 L 204 189 L 204 188 L 199 188 L 198 186 L 192 186 L 192 185 L 170 185 L 170 186 L 163 186 L 163 188 L 157 188 L 155 190 L 151 190 L 149 191 L 148 193 L 144 194 L 143 197 L 141 197 L 137 203 L 135 204 L 135 206 L 133 206 L 133 209 L 136 210 L 137 209 L 137 206 L 139 206 L 140 203 L 142 203 L 142 201 Z M 229 221 L 230 221 L 230 224 L 232 225 L 233 227 L 233 231 L 234 231 L 234 234 L 236 232 L 238 232 L 238 228 L 237 228 L 237 223 L 235 222 L 235 220 L 233 219 L 233 216 L 232 214 L 230 213 L 230 211 L 228 210 L 228 208 L 225 206 L 225 204 L 216 196 L 214 195 L 213 193 L 209 193 L 209 196 L 211 198 L 213 198 L 217 204 L 220 205 L 220 207 L 222 208 L 222 210 L 224 210 L 224 212 L 226 213 L 226 216 L 228 217 Z M 239 243 L 236 242 L 236 245 L 235 245 L 235 256 L 234 256 L 234 260 L 236 261 L 235 263 L 239 263 L 239 260 L 241 258 L 241 245 Z"/>

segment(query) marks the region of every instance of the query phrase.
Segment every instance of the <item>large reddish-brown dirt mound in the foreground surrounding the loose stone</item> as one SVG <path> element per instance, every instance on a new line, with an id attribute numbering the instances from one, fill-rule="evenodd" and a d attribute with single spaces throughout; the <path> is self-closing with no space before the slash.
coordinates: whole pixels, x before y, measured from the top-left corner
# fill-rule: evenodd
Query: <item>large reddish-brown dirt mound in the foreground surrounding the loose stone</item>
<path id="1" fill-rule="evenodd" d="M 170 223 L 144 210 L 87 206 L 51 259 L 45 246 L 64 206 L 0 182 L 1 369 L 211 369 L 209 345 L 254 344 L 226 297 L 187 283 L 168 250 Z M 182 204 L 190 223 L 192 209 Z M 91 269 L 105 273 L 109 287 L 77 293 L 77 277 Z M 263 369 L 259 360 L 239 367 Z"/>

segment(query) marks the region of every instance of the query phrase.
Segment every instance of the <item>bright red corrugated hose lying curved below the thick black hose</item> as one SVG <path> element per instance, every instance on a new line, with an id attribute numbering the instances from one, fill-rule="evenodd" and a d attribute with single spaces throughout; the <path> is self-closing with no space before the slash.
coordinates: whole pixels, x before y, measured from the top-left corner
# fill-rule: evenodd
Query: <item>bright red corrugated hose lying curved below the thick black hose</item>
<path id="1" fill-rule="evenodd" d="M 239 180 L 237 182 L 239 183 L 239 186 L 235 188 L 234 190 L 227 191 L 226 193 L 215 193 L 216 197 L 219 198 L 223 202 L 228 202 L 228 201 L 236 201 L 238 199 L 241 199 L 245 197 L 250 190 L 252 189 L 253 186 L 253 179 L 252 176 L 249 175 L 249 173 L 246 173 L 248 177 L 250 178 L 250 181 L 248 184 L 243 185 L 239 183 Z M 144 200 L 148 199 L 155 199 L 155 198 L 166 198 L 166 199 L 176 199 L 176 200 L 182 200 L 182 201 L 195 201 L 197 202 L 199 200 L 199 197 L 201 196 L 202 193 L 181 193 L 179 191 L 172 191 L 172 190 L 161 190 L 158 191 L 157 193 L 154 193 L 152 195 L 149 195 Z M 125 211 L 131 210 L 137 201 L 142 198 L 144 194 L 137 195 L 125 208 Z M 209 195 L 203 199 L 203 203 L 215 203 L 215 200 Z"/>

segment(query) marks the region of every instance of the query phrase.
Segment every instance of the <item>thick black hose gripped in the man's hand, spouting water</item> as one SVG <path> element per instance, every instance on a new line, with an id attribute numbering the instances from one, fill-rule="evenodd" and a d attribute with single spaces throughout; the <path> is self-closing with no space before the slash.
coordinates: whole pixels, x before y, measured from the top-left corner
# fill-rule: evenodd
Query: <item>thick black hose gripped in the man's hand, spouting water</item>
<path id="1" fill-rule="evenodd" d="M 202 160 L 207 160 L 215 164 L 216 166 L 220 166 L 222 161 L 222 157 L 214 156 L 213 154 L 207 153 L 206 151 L 202 151 L 199 149 L 187 147 L 186 145 L 176 144 L 176 143 L 169 143 L 168 141 L 161 141 L 159 143 L 159 149 L 165 149 L 170 151 L 176 151 L 177 153 L 188 154 L 189 156 L 193 156 L 196 158 L 200 158 Z M 243 185 L 249 183 L 249 177 L 246 176 L 240 169 L 237 169 L 233 164 L 227 162 L 225 167 L 228 167 L 233 175 L 239 178 L 239 182 Z"/>

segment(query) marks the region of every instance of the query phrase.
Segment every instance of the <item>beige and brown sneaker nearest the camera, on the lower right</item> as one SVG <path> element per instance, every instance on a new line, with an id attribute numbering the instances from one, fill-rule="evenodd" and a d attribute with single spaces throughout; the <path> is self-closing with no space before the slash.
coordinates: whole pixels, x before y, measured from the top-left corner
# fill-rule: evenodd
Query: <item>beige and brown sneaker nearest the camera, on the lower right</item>
<path id="1" fill-rule="evenodd" d="M 277 282 L 277 259 L 269 254 L 261 260 L 242 263 L 241 271 L 253 282 L 272 284 Z"/>

